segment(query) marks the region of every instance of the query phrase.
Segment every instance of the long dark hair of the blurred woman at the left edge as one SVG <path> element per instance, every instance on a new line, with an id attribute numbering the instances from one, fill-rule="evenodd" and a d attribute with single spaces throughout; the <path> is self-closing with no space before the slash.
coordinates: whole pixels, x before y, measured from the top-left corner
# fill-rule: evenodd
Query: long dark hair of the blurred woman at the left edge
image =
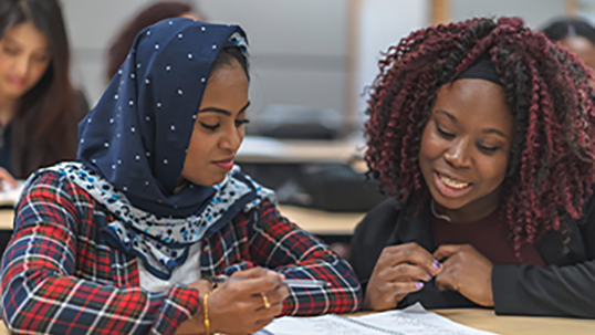
<path id="1" fill-rule="evenodd" d="M 76 156 L 75 96 L 70 82 L 70 49 L 60 4 L 56 0 L 0 1 L 2 35 L 23 22 L 32 22 L 45 35 L 51 62 L 40 81 L 19 98 L 11 119 L 11 168 L 17 178 Z"/>

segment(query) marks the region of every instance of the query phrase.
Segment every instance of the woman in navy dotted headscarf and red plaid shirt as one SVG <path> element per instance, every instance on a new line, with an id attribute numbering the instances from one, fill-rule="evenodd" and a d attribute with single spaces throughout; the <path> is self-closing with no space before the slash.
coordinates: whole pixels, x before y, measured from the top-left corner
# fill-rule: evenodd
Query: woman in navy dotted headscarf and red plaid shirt
<path id="1" fill-rule="evenodd" d="M 349 265 L 233 166 L 247 48 L 239 27 L 189 19 L 138 34 L 80 125 L 76 161 L 28 181 L 2 260 L 9 329 L 247 334 L 279 315 L 357 310 Z"/>

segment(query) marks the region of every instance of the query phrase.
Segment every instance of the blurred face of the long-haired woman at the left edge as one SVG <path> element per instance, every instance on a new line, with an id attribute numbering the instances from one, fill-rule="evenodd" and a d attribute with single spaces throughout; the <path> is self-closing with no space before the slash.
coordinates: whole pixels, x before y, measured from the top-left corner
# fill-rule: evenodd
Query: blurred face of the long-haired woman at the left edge
<path id="1" fill-rule="evenodd" d="M 33 22 L 9 29 L 0 40 L 0 94 L 21 97 L 39 82 L 50 61 L 48 39 Z"/>

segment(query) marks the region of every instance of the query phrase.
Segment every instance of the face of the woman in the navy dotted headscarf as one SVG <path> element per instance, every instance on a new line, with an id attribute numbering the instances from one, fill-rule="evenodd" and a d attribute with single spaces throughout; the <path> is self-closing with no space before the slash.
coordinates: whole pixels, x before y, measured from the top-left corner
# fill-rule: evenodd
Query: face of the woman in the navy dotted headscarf
<path id="1" fill-rule="evenodd" d="M 198 109 L 181 177 L 202 186 L 225 180 L 244 136 L 248 77 L 238 61 L 216 70 Z"/>

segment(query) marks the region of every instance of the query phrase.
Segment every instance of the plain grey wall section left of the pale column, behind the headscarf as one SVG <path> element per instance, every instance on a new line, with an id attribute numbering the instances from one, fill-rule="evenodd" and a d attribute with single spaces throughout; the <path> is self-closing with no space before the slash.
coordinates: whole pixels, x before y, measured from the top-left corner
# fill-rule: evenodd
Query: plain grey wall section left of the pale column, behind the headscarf
<path id="1" fill-rule="evenodd" d="M 75 82 L 91 102 L 103 90 L 105 52 L 147 0 L 62 0 L 73 46 Z M 201 0 L 215 22 L 240 23 L 251 43 L 251 113 L 268 104 L 343 111 L 346 0 Z"/>

